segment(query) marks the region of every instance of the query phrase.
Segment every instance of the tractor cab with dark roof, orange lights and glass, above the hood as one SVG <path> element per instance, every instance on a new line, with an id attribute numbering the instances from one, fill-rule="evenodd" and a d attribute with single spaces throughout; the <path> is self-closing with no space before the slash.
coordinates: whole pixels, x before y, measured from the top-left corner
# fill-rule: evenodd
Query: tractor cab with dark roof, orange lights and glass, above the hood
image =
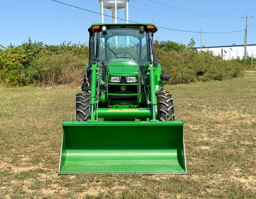
<path id="1" fill-rule="evenodd" d="M 95 56 L 91 59 L 103 66 L 114 59 L 131 59 L 143 66 L 153 61 L 152 33 L 156 31 L 152 24 L 93 24 L 89 32 L 94 33 Z"/>

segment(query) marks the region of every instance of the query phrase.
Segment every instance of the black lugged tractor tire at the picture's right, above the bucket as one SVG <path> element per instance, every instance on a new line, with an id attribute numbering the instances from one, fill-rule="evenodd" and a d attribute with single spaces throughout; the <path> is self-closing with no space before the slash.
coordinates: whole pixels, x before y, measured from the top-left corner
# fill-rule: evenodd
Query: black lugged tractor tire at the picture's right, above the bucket
<path id="1" fill-rule="evenodd" d="M 173 98 L 168 91 L 160 90 L 156 93 L 158 105 L 158 120 L 159 121 L 174 121 L 174 105 Z M 167 120 L 166 120 L 167 116 Z"/>

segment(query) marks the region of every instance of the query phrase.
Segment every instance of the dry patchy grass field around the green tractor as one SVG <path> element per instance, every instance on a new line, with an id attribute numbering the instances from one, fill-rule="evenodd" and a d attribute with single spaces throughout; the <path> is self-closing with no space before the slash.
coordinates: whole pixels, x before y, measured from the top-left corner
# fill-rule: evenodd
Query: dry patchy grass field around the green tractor
<path id="1" fill-rule="evenodd" d="M 0 199 L 256 199 L 256 73 L 166 86 L 188 175 L 58 176 L 79 88 L 0 87 Z"/>

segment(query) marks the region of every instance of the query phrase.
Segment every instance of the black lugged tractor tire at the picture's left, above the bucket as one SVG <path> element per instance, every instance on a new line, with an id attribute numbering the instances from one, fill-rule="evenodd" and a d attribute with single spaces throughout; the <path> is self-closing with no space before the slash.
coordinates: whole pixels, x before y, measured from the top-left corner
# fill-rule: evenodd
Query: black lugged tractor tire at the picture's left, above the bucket
<path id="1" fill-rule="evenodd" d="M 88 121 L 89 107 L 90 107 L 90 96 L 88 92 L 81 92 L 76 95 L 76 118 L 78 115 L 79 121 Z"/>

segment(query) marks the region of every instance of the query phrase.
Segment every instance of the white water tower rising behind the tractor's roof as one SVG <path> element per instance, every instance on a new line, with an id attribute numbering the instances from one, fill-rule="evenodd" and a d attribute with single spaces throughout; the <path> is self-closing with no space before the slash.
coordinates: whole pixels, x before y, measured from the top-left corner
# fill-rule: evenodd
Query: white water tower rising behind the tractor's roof
<path id="1" fill-rule="evenodd" d="M 104 23 L 104 8 L 112 12 L 112 23 L 117 23 L 117 10 L 124 8 L 125 23 L 128 23 L 128 2 L 130 0 L 98 0 L 100 2 L 101 23 Z M 120 18 L 120 17 L 118 17 Z"/>

